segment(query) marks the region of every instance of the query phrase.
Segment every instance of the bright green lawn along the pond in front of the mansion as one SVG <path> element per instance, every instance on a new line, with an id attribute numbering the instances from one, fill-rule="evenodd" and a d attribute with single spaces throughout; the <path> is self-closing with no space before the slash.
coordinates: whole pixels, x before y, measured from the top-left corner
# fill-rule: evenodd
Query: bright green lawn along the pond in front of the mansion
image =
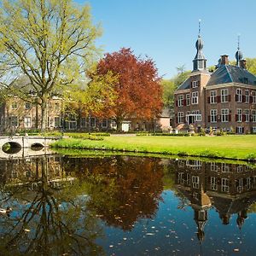
<path id="1" fill-rule="evenodd" d="M 224 137 L 104 137 L 101 141 L 62 139 L 54 148 L 108 149 L 123 152 L 177 154 L 201 157 L 256 160 L 256 136 Z"/>

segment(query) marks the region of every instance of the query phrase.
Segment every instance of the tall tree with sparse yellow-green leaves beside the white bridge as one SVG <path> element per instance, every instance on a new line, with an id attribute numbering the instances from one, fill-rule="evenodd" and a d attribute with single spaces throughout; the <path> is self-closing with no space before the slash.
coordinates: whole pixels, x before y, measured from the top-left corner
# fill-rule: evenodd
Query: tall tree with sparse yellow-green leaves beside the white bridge
<path id="1" fill-rule="evenodd" d="M 84 75 L 101 30 L 91 24 L 90 7 L 72 0 L 3 0 L 0 5 L 0 84 L 6 89 L 9 79 L 29 79 L 44 131 L 49 97 Z"/>

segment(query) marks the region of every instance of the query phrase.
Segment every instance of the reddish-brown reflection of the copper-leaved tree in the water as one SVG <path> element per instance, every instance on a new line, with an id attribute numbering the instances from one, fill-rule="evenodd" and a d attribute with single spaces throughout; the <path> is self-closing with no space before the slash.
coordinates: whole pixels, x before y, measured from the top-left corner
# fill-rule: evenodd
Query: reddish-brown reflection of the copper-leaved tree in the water
<path id="1" fill-rule="evenodd" d="M 88 207 L 108 225 L 131 230 L 139 218 L 154 216 L 163 190 L 160 160 L 116 156 L 86 160 L 86 166 Z"/>

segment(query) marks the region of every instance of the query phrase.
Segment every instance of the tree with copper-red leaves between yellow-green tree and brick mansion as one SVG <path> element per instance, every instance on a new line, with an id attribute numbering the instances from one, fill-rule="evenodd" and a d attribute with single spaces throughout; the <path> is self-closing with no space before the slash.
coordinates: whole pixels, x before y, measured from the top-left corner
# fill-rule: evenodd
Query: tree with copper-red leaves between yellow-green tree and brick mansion
<path id="1" fill-rule="evenodd" d="M 154 61 L 142 59 L 131 49 L 122 48 L 107 54 L 98 63 L 98 74 L 111 71 L 118 76 L 114 84 L 116 100 L 114 106 L 104 109 L 103 113 L 115 119 L 120 130 L 124 119 L 154 119 L 162 108 L 162 87 Z"/>

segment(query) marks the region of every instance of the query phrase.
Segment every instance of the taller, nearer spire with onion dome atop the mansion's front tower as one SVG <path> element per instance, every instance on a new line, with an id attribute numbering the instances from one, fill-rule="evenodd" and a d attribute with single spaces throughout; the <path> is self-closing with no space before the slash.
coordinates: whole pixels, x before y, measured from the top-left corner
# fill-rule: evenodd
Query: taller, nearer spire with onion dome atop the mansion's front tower
<path id="1" fill-rule="evenodd" d="M 207 59 L 202 53 L 203 48 L 203 42 L 201 39 L 201 20 L 199 20 L 199 26 L 198 26 L 198 38 L 195 43 L 195 48 L 197 50 L 195 59 L 193 60 L 193 72 L 200 71 L 200 70 L 206 70 L 207 69 Z"/>

